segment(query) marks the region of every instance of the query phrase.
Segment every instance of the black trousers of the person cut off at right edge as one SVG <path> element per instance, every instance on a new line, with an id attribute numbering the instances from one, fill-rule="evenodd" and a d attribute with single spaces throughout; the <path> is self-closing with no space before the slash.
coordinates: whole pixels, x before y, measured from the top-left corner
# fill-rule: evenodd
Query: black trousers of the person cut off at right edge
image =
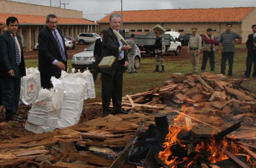
<path id="1" fill-rule="evenodd" d="M 244 75 L 250 76 L 253 64 L 253 73 L 252 76 L 256 77 L 256 48 L 248 48 L 247 58 L 246 58 L 246 71 Z"/>

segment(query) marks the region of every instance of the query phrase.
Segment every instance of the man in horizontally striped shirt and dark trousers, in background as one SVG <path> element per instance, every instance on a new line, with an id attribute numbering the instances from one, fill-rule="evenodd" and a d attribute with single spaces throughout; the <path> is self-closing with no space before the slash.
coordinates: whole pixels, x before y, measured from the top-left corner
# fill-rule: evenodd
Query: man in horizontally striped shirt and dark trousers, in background
<path id="1" fill-rule="evenodd" d="M 220 36 L 220 44 L 219 44 L 219 55 L 221 56 L 221 74 L 225 75 L 226 70 L 226 62 L 229 60 L 229 74 L 228 77 L 232 77 L 232 68 L 234 63 L 234 40 L 238 38 L 237 44 L 241 44 L 242 37 L 237 33 L 231 31 L 232 24 L 226 24 L 226 31 Z"/>

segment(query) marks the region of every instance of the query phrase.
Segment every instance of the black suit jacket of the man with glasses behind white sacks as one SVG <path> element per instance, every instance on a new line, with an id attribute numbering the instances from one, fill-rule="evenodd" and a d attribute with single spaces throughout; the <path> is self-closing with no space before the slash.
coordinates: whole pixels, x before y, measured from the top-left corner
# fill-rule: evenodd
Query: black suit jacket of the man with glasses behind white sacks
<path id="1" fill-rule="evenodd" d="M 67 52 L 65 47 L 64 37 L 62 35 L 61 28 L 57 27 L 58 32 L 61 34 L 65 55 L 67 58 Z M 38 35 L 38 68 L 41 74 L 50 76 L 61 76 L 61 69 L 52 62 L 56 59 L 62 61 L 67 68 L 67 62 L 62 60 L 61 51 L 58 48 L 57 41 L 51 31 L 47 26 Z M 66 69 L 65 69 L 66 70 Z"/>

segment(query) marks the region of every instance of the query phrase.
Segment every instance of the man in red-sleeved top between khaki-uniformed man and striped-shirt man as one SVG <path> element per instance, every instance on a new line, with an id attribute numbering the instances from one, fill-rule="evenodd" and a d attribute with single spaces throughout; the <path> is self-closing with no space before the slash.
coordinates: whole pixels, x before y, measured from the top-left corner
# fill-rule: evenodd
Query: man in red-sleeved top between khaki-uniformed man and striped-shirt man
<path id="1" fill-rule="evenodd" d="M 212 35 L 212 29 L 208 28 L 206 30 L 206 35 L 203 35 L 203 61 L 202 61 L 202 67 L 201 70 L 204 71 L 208 58 L 210 58 L 210 67 L 211 71 L 214 71 L 215 68 L 215 44 L 217 43 L 217 40 L 215 36 Z"/>

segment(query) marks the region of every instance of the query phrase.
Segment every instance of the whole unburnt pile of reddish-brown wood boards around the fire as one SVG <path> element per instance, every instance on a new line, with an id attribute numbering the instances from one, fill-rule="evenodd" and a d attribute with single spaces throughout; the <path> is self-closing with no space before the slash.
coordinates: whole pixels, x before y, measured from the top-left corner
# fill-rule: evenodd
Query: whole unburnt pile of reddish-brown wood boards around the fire
<path id="1" fill-rule="evenodd" d="M 168 116 L 172 124 L 184 106 L 186 112 L 181 114 L 198 126 L 194 133 L 220 132 L 243 120 L 233 134 L 247 143 L 256 138 L 256 94 L 243 88 L 242 81 L 209 72 L 174 75 L 162 88 L 123 97 L 122 108 L 129 114 L 110 114 L 53 132 L 0 141 L 0 167 L 118 167 L 138 130 L 155 124 L 155 116 Z"/>

